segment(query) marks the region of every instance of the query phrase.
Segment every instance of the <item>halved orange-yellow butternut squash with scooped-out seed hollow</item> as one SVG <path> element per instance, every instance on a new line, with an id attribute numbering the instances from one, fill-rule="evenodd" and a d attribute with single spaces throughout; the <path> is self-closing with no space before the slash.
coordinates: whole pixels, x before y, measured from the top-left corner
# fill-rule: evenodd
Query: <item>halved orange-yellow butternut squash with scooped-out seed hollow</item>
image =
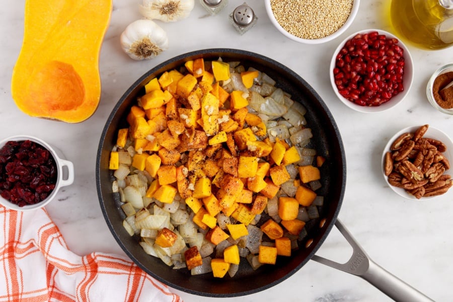
<path id="1" fill-rule="evenodd" d="M 101 97 L 99 54 L 112 0 L 26 0 L 11 91 L 33 117 L 78 123 Z"/>

